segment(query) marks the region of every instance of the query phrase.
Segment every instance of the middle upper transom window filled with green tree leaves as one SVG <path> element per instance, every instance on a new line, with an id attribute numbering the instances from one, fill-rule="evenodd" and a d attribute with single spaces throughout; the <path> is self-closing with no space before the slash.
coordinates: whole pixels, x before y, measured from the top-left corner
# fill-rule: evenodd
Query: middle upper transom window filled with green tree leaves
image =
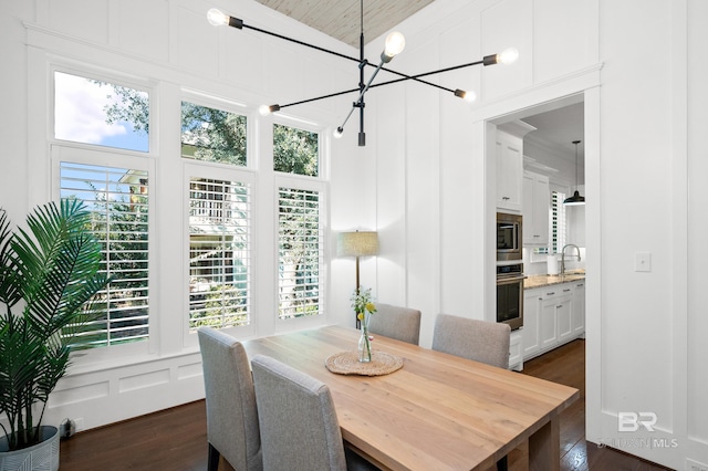
<path id="1" fill-rule="evenodd" d="M 246 165 L 246 116 L 181 102 L 181 156 Z"/>

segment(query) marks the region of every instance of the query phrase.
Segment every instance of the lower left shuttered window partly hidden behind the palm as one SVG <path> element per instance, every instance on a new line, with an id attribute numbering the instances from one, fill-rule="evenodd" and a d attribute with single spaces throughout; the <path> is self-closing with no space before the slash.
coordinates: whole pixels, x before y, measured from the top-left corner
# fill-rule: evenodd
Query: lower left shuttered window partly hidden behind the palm
<path id="1" fill-rule="evenodd" d="M 144 341 L 149 331 L 147 171 L 62 161 L 61 198 L 92 211 L 103 271 L 113 280 L 100 293 L 105 314 L 82 333 L 84 347 Z"/>

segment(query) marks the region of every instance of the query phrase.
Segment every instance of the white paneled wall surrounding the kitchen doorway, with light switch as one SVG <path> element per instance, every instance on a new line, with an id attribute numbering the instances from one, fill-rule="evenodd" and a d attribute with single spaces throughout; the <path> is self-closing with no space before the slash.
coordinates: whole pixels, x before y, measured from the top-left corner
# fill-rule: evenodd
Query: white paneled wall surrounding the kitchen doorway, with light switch
<path id="1" fill-rule="evenodd" d="M 379 294 L 423 311 L 427 346 L 439 312 L 493 315 L 486 123 L 583 94 L 587 438 L 678 469 L 686 459 L 708 462 L 706 275 L 688 258 L 701 252 L 706 223 L 698 216 L 705 159 L 690 134 L 706 124 L 697 105 L 706 64 L 693 60 L 706 43 L 699 18 L 708 17 L 698 0 L 438 1 L 400 25 L 408 46 L 396 66 L 434 70 L 504 41 L 521 60 L 436 78 L 477 90 L 480 101 L 469 108 L 442 92 L 430 101 L 406 83 L 381 98 L 387 106 L 377 117 L 377 218 L 397 241 L 378 258 Z M 634 271 L 644 251 L 649 273 Z M 618 412 L 656 414 L 656 430 L 620 432 Z"/>

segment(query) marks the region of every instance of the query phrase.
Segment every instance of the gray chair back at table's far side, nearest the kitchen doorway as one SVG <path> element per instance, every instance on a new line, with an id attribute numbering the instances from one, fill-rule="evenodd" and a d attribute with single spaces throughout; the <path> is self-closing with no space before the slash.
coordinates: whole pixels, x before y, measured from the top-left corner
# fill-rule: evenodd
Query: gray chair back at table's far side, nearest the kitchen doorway
<path id="1" fill-rule="evenodd" d="M 438 314 L 433 349 L 509 368 L 511 328 L 507 324 Z"/>

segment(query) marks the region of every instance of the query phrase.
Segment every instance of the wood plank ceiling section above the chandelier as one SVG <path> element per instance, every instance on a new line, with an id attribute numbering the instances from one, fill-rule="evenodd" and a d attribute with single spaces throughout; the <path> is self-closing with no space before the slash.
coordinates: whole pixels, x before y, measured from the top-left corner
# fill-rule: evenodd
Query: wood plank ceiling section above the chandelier
<path id="1" fill-rule="evenodd" d="M 392 30 L 434 0 L 257 0 L 301 23 L 358 49 L 364 4 L 364 41 Z"/>

